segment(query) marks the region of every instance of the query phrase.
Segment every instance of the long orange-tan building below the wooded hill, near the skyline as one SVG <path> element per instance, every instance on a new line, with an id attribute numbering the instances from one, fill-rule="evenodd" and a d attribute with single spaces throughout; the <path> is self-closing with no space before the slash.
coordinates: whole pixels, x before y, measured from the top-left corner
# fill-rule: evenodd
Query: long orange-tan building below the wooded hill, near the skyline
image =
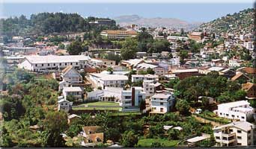
<path id="1" fill-rule="evenodd" d="M 103 37 L 114 38 L 114 39 L 124 39 L 127 37 L 136 37 L 136 31 L 123 31 L 123 30 L 105 30 L 100 33 Z"/>

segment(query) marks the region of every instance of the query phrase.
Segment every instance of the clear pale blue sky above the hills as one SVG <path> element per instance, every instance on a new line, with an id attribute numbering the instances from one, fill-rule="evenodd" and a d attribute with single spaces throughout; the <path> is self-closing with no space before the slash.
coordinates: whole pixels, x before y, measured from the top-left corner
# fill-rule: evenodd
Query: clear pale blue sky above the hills
<path id="1" fill-rule="evenodd" d="M 0 0 L 0 2 L 3 0 Z M 92 0 L 91 0 L 92 1 Z M 0 4 L 0 17 L 20 16 L 24 14 L 29 18 L 32 13 L 63 12 L 79 13 L 81 16 L 98 16 L 115 18 L 124 15 L 138 15 L 145 18 L 162 17 L 177 18 L 187 22 L 209 22 L 213 19 L 225 16 L 228 13 L 239 12 L 252 7 L 250 0 L 208 0 L 202 3 L 200 0 L 123 0 L 122 3 L 115 0 L 8 0 Z M 216 3 L 218 2 L 218 3 Z"/>

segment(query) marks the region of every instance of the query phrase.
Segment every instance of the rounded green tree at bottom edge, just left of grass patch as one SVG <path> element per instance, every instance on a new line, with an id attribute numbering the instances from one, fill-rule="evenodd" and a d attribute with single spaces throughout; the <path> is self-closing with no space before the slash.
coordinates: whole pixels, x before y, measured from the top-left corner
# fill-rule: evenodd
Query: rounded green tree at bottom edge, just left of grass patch
<path id="1" fill-rule="evenodd" d="M 138 136 L 133 131 L 125 131 L 122 135 L 121 145 L 132 148 L 138 143 Z"/>

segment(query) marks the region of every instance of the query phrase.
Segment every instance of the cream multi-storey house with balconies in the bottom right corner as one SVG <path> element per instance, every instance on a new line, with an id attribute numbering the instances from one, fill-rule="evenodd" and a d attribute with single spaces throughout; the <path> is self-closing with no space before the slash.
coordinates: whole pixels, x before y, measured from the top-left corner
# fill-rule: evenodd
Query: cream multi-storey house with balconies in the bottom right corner
<path id="1" fill-rule="evenodd" d="M 213 128 L 213 136 L 218 146 L 256 145 L 255 124 L 247 121 L 236 121 Z"/>

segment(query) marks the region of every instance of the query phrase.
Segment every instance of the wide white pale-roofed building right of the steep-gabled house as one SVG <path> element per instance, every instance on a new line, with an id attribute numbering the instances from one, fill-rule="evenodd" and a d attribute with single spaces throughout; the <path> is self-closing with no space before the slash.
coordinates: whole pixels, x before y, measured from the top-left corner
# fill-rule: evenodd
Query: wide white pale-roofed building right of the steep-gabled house
<path id="1" fill-rule="evenodd" d="M 128 77 L 126 75 L 92 73 L 89 77 L 97 86 L 102 87 L 102 89 L 104 89 L 105 86 L 124 87 L 128 81 Z"/>

